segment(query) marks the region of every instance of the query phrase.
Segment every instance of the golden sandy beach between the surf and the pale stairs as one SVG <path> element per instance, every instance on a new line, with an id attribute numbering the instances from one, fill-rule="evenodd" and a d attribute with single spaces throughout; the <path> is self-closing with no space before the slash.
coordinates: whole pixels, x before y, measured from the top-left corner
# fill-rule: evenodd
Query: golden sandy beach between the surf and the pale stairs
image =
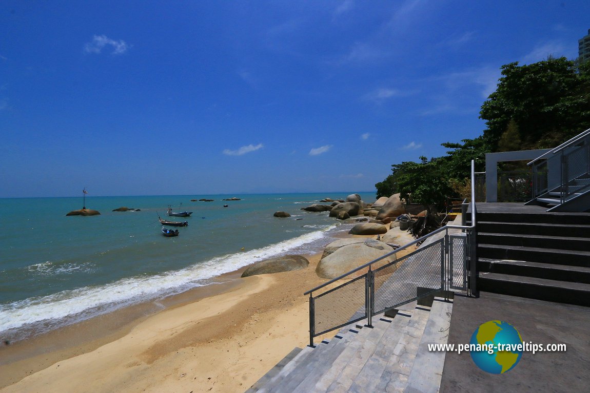
<path id="1" fill-rule="evenodd" d="M 399 233 L 399 243 L 412 240 Z M 243 392 L 309 342 L 303 293 L 326 280 L 315 273 L 321 255 L 308 257 L 307 269 L 234 272 L 222 285 L 143 305 L 133 317 L 123 311 L 3 346 L 1 358 L 14 361 L 0 365 L 1 391 Z"/>

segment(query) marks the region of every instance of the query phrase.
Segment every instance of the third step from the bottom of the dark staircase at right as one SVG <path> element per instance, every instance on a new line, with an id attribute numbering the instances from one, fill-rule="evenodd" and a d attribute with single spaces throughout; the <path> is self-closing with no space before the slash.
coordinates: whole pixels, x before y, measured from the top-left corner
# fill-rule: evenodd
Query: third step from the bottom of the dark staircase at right
<path id="1" fill-rule="evenodd" d="M 477 246 L 477 256 L 590 267 L 590 251 L 480 244 Z"/>

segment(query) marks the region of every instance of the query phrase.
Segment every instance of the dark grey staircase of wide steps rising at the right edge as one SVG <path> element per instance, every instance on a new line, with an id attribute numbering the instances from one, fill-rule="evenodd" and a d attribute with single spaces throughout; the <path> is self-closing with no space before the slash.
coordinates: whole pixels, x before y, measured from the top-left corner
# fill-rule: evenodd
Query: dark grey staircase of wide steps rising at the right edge
<path id="1" fill-rule="evenodd" d="M 590 214 L 502 205 L 477 213 L 478 289 L 590 306 Z"/>

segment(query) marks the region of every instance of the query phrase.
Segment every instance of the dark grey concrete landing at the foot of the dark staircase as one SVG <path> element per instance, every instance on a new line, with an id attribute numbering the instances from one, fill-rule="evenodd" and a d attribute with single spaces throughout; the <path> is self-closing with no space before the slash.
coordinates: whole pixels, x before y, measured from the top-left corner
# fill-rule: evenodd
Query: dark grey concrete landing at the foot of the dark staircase
<path id="1" fill-rule="evenodd" d="M 447 352 L 440 392 L 590 391 L 590 308 L 486 292 L 455 296 L 448 344 L 468 344 L 481 323 L 494 320 L 513 325 L 525 342 L 566 344 L 567 351 L 525 352 L 498 375 L 478 368 L 468 352 Z"/>

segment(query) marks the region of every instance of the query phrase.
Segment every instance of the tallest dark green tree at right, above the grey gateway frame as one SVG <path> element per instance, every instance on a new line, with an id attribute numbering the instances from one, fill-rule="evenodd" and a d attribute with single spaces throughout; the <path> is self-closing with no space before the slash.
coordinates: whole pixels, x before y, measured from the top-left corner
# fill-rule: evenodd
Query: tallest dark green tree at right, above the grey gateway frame
<path id="1" fill-rule="evenodd" d="M 522 146 L 555 147 L 590 127 L 590 78 L 587 64 L 565 57 L 529 65 L 503 65 L 496 91 L 481 105 L 484 136 L 492 151 L 510 122 L 519 130 Z"/>

